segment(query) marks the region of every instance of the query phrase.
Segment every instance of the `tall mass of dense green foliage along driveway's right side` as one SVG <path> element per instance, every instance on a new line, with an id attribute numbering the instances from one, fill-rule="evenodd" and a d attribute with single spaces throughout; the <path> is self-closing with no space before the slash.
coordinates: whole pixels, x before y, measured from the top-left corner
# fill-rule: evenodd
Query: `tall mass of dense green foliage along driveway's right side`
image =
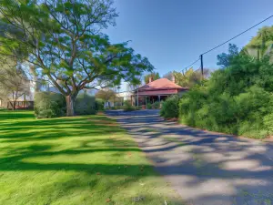
<path id="1" fill-rule="evenodd" d="M 179 103 L 182 123 L 219 132 L 265 138 L 272 134 L 272 69 L 268 59 L 240 54 Z"/>

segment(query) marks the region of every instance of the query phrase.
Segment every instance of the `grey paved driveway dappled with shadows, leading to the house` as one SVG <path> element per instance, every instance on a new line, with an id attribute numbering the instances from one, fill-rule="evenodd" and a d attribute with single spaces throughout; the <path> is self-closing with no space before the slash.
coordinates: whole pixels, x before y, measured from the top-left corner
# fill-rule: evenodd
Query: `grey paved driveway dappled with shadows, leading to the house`
<path id="1" fill-rule="evenodd" d="M 108 115 L 189 204 L 273 205 L 272 145 L 167 122 L 157 110 Z"/>

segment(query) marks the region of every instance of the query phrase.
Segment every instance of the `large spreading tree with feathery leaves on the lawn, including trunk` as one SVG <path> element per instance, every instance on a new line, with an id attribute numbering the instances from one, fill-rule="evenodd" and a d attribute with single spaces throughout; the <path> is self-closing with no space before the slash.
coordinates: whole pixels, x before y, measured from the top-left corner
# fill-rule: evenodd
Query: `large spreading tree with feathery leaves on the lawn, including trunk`
<path id="1" fill-rule="evenodd" d="M 153 70 L 127 42 L 111 44 L 101 33 L 115 26 L 113 0 L 2 0 L 0 14 L 20 31 L 0 32 L 0 54 L 27 53 L 21 61 L 34 65 L 66 97 L 67 116 L 74 115 L 80 90 L 118 85 L 122 79 L 137 84 L 137 76 Z"/>

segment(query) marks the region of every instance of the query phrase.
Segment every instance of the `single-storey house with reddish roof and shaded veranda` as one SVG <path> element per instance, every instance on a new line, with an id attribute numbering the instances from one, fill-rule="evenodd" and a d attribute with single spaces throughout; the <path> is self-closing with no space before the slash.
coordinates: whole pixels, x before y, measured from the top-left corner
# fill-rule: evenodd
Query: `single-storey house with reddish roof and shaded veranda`
<path id="1" fill-rule="evenodd" d="M 131 96 L 132 105 L 143 106 L 147 103 L 155 103 L 165 100 L 172 95 L 183 95 L 187 92 L 188 87 L 180 87 L 175 83 L 175 79 L 168 80 L 167 78 L 160 78 L 152 81 L 149 78 L 149 83 L 143 87 L 138 87 Z"/>

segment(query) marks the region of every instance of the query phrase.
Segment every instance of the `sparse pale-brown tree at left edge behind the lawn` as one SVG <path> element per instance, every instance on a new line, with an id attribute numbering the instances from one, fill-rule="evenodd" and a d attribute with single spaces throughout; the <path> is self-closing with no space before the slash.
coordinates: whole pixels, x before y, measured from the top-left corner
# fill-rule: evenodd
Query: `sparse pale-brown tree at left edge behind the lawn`
<path id="1" fill-rule="evenodd" d="M 30 95 L 30 80 L 25 70 L 12 59 L 7 59 L 0 68 L 0 99 L 15 109 L 19 97 Z M 11 63 L 13 61 L 13 63 Z"/>

